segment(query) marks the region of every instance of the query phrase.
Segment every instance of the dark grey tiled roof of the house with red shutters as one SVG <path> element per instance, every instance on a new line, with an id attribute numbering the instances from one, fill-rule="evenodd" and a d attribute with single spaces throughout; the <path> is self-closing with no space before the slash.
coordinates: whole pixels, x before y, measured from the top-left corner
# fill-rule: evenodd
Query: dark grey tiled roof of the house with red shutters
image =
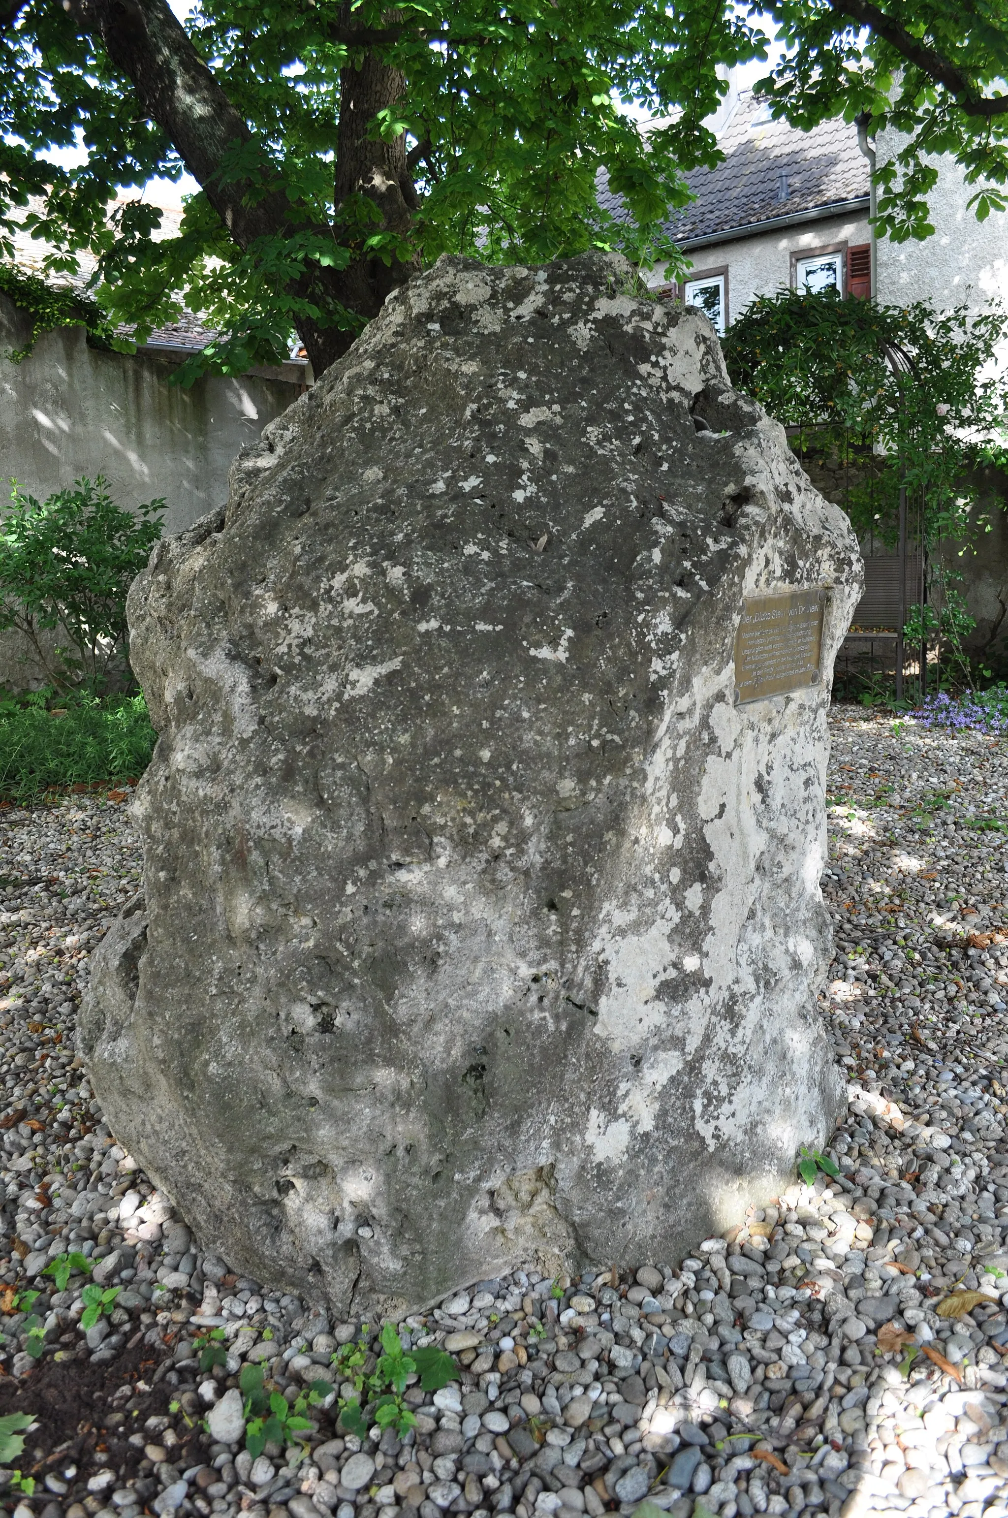
<path id="1" fill-rule="evenodd" d="M 717 135 L 723 162 L 685 176 L 695 200 L 665 223 L 677 243 L 800 211 L 826 214 L 832 205 L 868 194 L 868 162 L 847 121 L 833 118 L 799 132 L 773 121 L 765 102 L 744 90 Z M 598 199 L 615 216 L 622 213 L 619 197 L 604 185 Z"/>

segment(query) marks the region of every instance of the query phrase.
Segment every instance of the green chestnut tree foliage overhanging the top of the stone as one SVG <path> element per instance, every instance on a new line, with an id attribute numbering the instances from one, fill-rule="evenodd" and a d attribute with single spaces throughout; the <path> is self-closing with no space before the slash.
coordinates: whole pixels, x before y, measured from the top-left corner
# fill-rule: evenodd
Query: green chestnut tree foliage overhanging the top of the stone
<path id="1" fill-rule="evenodd" d="M 182 6 L 179 6 L 182 11 Z M 241 372 L 304 342 L 316 373 L 439 254 L 676 258 L 683 173 L 717 162 L 718 64 L 788 43 L 765 88 L 799 126 L 908 134 L 880 220 L 926 235 L 926 155 L 1008 182 L 1003 0 L 0 0 L 0 257 L 15 223 L 53 275 L 143 340 L 181 305 L 222 332 L 188 366 Z M 53 149 L 83 147 L 80 167 Z M 47 156 L 49 155 L 49 156 Z M 178 231 L 152 176 L 200 185 Z M 600 175 L 619 217 L 597 199 Z"/>

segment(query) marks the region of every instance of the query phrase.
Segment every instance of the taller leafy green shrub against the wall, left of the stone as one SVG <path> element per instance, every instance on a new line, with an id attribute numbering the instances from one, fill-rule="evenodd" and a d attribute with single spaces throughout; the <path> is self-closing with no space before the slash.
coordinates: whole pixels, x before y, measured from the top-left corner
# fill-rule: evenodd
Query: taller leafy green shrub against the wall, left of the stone
<path id="1" fill-rule="evenodd" d="M 115 505 L 100 475 L 43 502 L 14 484 L 0 524 L 0 631 L 27 638 L 58 691 L 129 679 L 126 595 L 161 537 L 162 509 Z M 47 633 L 70 647 L 53 648 Z"/>

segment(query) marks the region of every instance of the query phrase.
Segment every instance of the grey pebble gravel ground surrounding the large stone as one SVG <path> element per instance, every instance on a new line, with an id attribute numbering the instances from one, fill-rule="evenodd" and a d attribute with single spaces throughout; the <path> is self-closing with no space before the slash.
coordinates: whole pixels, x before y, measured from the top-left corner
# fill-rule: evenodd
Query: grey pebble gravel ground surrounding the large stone
<path id="1" fill-rule="evenodd" d="M 317 1377 L 346 1395 L 332 1354 L 373 1350 L 373 1325 L 328 1322 L 202 1254 L 102 1122 L 73 1017 L 138 880 L 128 798 L 0 812 L 0 890 L 21 882 L 0 912 L 0 1415 L 36 1416 L 18 1462 L 36 1488 L 0 1475 L 8 1510 L 600 1518 L 647 1498 L 674 1518 L 1008 1518 L 1008 748 L 850 707 L 832 726 L 839 1176 L 795 1183 L 682 1261 L 477 1283 L 402 1325 L 460 1369 L 434 1394 L 408 1386 L 402 1441 L 337 1433 L 328 1398 L 307 1450 L 255 1460 L 243 1363 L 287 1403 Z M 118 1287 L 87 1333 L 88 1278 L 59 1292 L 39 1274 L 68 1249 Z M 194 1340 L 213 1328 L 226 1363 L 203 1372 Z"/>

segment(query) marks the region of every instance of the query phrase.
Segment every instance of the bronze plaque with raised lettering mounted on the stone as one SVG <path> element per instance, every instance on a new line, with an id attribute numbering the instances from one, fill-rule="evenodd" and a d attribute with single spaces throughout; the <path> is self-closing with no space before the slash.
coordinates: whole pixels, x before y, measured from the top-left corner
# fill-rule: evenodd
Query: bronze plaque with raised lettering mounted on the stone
<path id="1" fill-rule="evenodd" d="M 735 635 L 735 703 L 817 685 L 826 589 L 748 595 Z"/>

